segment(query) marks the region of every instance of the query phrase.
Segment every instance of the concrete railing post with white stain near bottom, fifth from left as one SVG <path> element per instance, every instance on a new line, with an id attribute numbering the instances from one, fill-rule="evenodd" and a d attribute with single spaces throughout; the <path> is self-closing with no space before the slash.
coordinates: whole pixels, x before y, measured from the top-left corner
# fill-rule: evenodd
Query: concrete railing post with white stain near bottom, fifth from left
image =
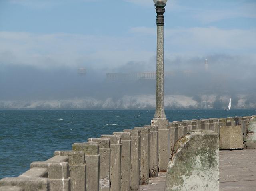
<path id="1" fill-rule="evenodd" d="M 108 138 L 88 138 L 88 141 L 97 142 L 100 154 L 100 191 L 110 189 L 110 140 Z"/>

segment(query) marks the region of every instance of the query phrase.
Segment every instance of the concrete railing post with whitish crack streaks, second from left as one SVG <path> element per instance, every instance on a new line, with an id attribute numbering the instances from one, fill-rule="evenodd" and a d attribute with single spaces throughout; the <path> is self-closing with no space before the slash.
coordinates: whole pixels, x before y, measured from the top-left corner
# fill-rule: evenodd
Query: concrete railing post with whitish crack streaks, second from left
<path id="1" fill-rule="evenodd" d="M 68 162 L 32 162 L 30 168 L 47 169 L 50 190 L 70 191 Z"/>

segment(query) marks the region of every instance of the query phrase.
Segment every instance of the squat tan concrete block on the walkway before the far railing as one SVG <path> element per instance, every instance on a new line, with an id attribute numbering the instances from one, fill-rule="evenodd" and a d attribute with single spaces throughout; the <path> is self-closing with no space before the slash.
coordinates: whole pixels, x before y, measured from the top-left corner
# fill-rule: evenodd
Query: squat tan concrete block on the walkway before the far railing
<path id="1" fill-rule="evenodd" d="M 220 126 L 220 149 L 243 149 L 241 126 Z"/>

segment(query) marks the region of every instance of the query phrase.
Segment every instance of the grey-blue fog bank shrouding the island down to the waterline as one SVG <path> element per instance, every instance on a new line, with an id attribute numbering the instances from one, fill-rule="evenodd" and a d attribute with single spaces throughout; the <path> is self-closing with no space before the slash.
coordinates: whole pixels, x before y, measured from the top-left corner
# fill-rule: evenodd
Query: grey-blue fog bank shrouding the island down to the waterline
<path id="1" fill-rule="evenodd" d="M 204 59 L 208 59 L 208 69 Z M 146 109 L 155 106 L 155 79 L 108 80 L 106 73 L 154 71 L 155 57 L 104 68 L 38 67 L 1 63 L 0 108 Z M 256 108 L 255 60 L 245 56 L 208 55 L 165 60 L 166 108 Z M 78 68 L 87 69 L 78 75 Z"/>

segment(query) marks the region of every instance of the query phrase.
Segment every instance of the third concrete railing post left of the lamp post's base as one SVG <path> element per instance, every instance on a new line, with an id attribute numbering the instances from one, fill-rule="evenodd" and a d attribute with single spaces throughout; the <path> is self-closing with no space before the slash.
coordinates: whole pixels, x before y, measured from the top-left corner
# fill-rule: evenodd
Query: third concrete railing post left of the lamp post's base
<path id="1" fill-rule="evenodd" d="M 131 190 L 140 190 L 140 130 L 125 129 L 131 134 Z"/>

